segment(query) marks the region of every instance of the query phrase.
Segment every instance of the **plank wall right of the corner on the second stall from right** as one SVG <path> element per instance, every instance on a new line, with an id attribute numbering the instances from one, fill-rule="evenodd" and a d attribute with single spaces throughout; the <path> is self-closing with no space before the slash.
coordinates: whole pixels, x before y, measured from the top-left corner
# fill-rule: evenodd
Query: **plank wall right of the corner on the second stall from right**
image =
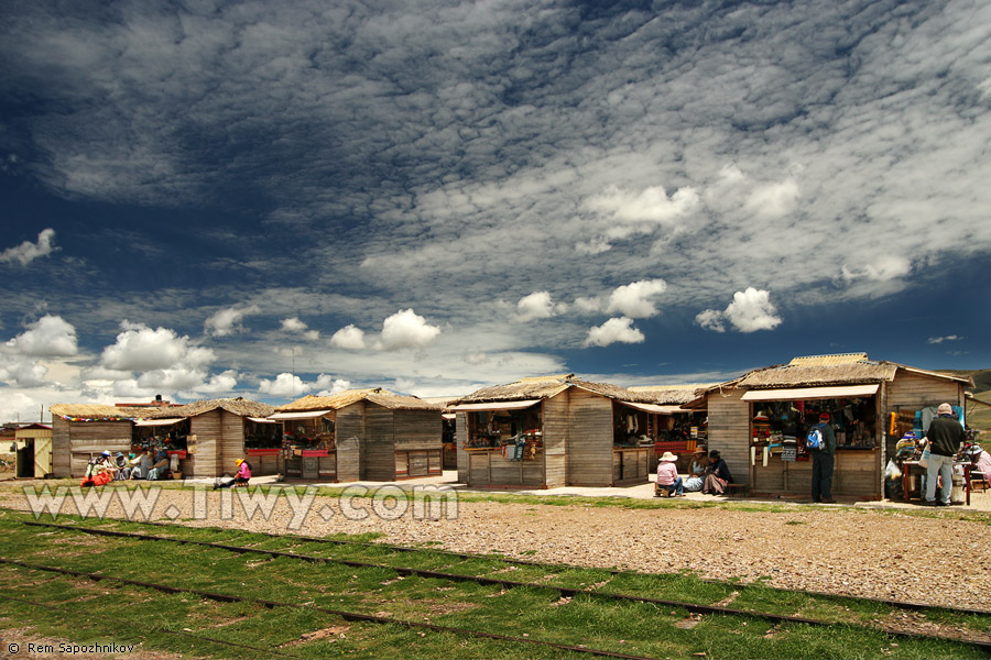
<path id="1" fill-rule="evenodd" d="M 573 387 L 568 393 L 569 486 L 612 485 L 612 399 Z"/>

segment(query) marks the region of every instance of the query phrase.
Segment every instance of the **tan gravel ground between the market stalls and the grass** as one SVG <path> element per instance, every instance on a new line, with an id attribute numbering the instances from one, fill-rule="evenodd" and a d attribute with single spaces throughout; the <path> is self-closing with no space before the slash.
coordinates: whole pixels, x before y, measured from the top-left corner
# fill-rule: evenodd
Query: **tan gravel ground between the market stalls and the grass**
<path id="1" fill-rule="evenodd" d="M 691 571 L 709 579 L 764 580 L 783 588 L 991 612 L 991 527 L 954 519 L 954 509 L 919 517 L 899 509 L 804 505 L 772 513 L 462 502 L 456 512 L 434 512 L 433 518 L 411 510 L 401 517 L 395 516 L 402 512 L 386 512 L 395 519 L 384 519 L 371 510 L 371 501 L 357 498 L 344 503 L 351 518 L 353 512 L 367 513 L 356 520 L 344 515 L 337 498 L 316 498 L 293 528 L 294 510 L 284 497 L 268 519 L 257 513 L 248 520 L 238 502 L 247 491 L 224 492 L 235 498 L 227 518 L 225 494 L 200 493 L 197 508 L 189 490 L 159 493 L 149 519 L 306 536 L 381 532 L 379 540 L 388 543 L 433 543 L 585 566 Z M 0 506 L 26 509 L 28 502 L 8 486 L 0 491 Z M 76 513 L 72 499 L 63 512 Z M 119 499 L 111 499 L 106 515 L 124 517 Z M 195 517 L 200 519 L 188 519 Z M 143 519 L 140 514 L 138 519 Z"/>

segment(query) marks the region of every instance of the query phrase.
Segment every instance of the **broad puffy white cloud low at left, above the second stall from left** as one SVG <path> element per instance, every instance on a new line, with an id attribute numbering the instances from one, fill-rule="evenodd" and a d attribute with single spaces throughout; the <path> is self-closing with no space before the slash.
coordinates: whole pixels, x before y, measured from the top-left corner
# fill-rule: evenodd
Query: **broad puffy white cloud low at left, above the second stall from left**
<path id="1" fill-rule="evenodd" d="M 121 322 L 123 332 L 117 341 L 104 349 L 100 365 L 116 371 L 170 370 L 185 365 L 200 370 L 214 361 L 210 349 L 193 345 L 188 337 L 178 337 L 174 330 L 152 330 L 143 323 Z"/>

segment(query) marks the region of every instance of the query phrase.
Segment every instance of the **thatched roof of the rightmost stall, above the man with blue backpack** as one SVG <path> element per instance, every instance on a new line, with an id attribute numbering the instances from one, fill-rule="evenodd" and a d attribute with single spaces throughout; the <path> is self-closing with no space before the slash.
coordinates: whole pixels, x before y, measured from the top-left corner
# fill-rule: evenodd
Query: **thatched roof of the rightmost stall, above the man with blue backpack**
<path id="1" fill-rule="evenodd" d="M 773 389 L 786 387 L 819 387 L 828 385 L 854 385 L 885 383 L 894 381 L 899 370 L 922 374 L 934 378 L 967 383 L 968 378 L 930 372 L 897 364 L 895 362 L 872 361 L 865 353 L 847 353 L 842 355 L 812 355 L 796 358 L 788 364 L 777 364 L 748 372 L 734 381 L 721 383 L 717 387 L 745 389 Z"/>

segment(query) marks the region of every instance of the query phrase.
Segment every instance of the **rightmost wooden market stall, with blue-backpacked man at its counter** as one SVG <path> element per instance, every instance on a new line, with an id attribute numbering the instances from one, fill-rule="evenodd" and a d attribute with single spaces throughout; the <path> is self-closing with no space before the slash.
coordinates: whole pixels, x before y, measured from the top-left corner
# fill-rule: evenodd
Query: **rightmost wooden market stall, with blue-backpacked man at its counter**
<path id="1" fill-rule="evenodd" d="M 968 383 L 863 353 L 796 358 L 707 389 L 709 449 L 752 494 L 807 498 L 805 437 L 819 413 L 829 413 L 837 432 L 832 495 L 880 499 L 897 441 L 885 420 L 903 408 L 960 402 Z"/>

